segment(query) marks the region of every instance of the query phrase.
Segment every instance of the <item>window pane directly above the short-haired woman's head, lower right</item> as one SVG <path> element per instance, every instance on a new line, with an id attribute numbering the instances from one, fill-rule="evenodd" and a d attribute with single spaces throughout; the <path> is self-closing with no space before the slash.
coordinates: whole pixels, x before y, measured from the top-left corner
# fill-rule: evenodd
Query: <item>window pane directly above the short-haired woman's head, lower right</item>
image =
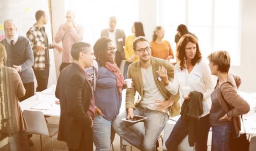
<path id="1" fill-rule="evenodd" d="M 214 33 L 214 50 L 225 50 L 229 52 L 231 64 L 240 65 L 238 28 L 216 27 Z"/>

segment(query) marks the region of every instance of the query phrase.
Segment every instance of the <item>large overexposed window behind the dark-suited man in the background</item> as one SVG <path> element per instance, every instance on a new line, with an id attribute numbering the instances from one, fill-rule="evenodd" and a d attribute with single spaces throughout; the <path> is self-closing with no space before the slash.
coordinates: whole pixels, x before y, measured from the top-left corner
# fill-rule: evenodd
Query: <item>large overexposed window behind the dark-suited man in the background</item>
<path id="1" fill-rule="evenodd" d="M 76 12 L 76 21 L 83 25 L 83 41 L 95 43 L 110 16 L 116 16 L 116 28 L 131 34 L 133 22 L 139 20 L 138 0 L 66 0 L 65 8 Z M 100 5 L 99 5 L 100 4 Z M 115 7 L 114 5 L 115 4 Z M 132 11 L 131 11 L 132 8 Z"/>

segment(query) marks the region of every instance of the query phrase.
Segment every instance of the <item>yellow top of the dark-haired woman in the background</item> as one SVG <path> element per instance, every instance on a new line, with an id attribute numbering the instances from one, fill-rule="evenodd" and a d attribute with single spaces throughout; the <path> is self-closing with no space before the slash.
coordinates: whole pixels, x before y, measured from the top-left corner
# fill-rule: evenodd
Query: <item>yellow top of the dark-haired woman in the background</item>
<path id="1" fill-rule="evenodd" d="M 134 57 L 133 62 L 139 59 L 139 57 L 136 54 L 134 54 L 134 51 L 132 48 L 132 42 L 134 39 L 135 39 L 135 36 L 130 35 L 126 38 L 126 41 L 125 41 L 125 57 L 126 57 L 126 61 L 128 62 L 130 57 Z"/>

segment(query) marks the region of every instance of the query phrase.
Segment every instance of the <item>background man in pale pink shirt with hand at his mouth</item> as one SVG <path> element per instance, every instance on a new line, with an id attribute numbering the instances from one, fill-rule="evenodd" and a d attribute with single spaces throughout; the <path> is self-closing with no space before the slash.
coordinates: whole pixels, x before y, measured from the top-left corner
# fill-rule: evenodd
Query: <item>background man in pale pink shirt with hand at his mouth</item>
<path id="1" fill-rule="evenodd" d="M 82 41 L 83 39 L 83 27 L 75 22 L 75 12 L 68 11 L 66 13 L 66 19 L 67 21 L 59 26 L 58 32 L 54 38 L 56 43 L 62 42 L 62 48 L 64 50 L 62 54 L 62 63 L 59 66 L 59 72 L 72 62 L 72 57 L 70 55 L 72 44 Z"/>

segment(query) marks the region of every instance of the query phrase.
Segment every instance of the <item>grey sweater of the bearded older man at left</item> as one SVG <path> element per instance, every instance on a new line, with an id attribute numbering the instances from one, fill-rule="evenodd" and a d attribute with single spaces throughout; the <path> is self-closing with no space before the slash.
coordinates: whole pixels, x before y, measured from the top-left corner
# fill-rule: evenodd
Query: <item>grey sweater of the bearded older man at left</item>
<path id="1" fill-rule="evenodd" d="M 12 46 L 6 39 L 2 43 L 7 52 L 6 66 L 20 65 L 22 70 L 19 72 L 22 82 L 30 83 L 34 81 L 32 66 L 34 65 L 34 55 L 31 44 L 26 37 L 19 36 L 17 42 Z"/>

